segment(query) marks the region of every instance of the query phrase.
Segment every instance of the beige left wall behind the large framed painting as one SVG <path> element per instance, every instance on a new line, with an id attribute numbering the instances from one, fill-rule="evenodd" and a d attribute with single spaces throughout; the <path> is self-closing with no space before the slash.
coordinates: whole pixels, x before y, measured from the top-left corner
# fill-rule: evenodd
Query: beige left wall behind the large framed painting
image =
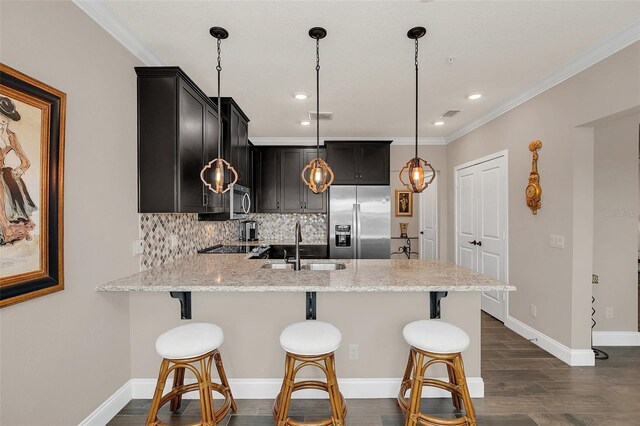
<path id="1" fill-rule="evenodd" d="M 138 61 L 70 2 L 0 3 L 4 64 L 67 94 L 65 290 L 0 311 L 0 424 L 78 424 L 130 378 Z"/>

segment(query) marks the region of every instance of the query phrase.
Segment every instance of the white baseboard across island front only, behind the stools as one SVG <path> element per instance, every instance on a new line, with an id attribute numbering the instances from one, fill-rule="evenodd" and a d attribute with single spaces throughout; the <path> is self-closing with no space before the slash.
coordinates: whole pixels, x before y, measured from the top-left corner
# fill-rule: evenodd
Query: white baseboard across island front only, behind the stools
<path id="1" fill-rule="evenodd" d="M 446 380 L 446 379 L 442 379 Z M 167 381 L 170 382 L 170 381 Z M 188 381 L 187 381 L 188 382 Z M 132 379 L 132 398 L 150 399 L 156 386 L 156 379 Z M 169 383 L 170 385 L 170 383 Z M 282 379 L 229 379 L 229 385 L 236 399 L 271 399 L 280 392 Z M 345 398 L 395 398 L 400 389 L 400 379 L 338 379 L 340 392 Z M 481 377 L 467 377 L 467 385 L 472 398 L 484 397 L 484 381 Z M 168 390 L 168 389 L 166 389 Z M 425 388 L 425 398 L 445 398 L 450 394 L 442 389 Z M 216 395 L 218 397 L 219 395 Z M 316 390 L 302 390 L 293 394 L 295 399 L 326 398 L 327 393 Z M 186 399 L 197 399 L 197 392 L 185 394 Z"/>

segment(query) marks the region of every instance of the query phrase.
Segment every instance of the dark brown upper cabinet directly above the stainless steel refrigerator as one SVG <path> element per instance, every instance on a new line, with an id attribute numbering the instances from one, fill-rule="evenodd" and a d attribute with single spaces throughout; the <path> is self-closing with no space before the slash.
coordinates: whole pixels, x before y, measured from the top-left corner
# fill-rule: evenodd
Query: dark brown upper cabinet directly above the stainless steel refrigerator
<path id="1" fill-rule="evenodd" d="M 392 141 L 327 141 L 327 163 L 334 185 L 389 185 L 389 147 Z"/>

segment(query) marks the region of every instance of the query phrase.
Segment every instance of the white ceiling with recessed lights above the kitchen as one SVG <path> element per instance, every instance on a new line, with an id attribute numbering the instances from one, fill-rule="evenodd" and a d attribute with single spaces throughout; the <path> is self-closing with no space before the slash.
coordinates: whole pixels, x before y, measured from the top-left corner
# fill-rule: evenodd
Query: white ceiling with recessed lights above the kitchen
<path id="1" fill-rule="evenodd" d="M 640 25 L 637 1 L 102 3 L 143 49 L 180 66 L 210 95 L 217 88 L 209 28 L 226 28 L 222 95 L 232 96 L 251 118 L 253 139 L 315 137 L 315 126 L 299 124 L 315 110 L 315 43 L 307 35 L 313 26 L 328 32 L 320 42 L 320 110 L 334 114 L 321 122 L 321 137 L 331 138 L 413 136 L 414 46 L 406 33 L 426 27 L 419 127 L 422 137 L 437 141 L 495 115 L 514 95 Z M 298 91 L 313 95 L 297 101 Z M 484 96 L 466 99 L 472 92 Z M 434 126 L 449 109 L 462 112 Z"/>

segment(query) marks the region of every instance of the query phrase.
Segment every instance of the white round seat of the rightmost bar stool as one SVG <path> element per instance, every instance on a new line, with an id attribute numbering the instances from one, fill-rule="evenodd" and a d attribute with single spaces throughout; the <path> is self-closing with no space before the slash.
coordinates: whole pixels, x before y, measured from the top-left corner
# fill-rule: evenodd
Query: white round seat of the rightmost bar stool
<path id="1" fill-rule="evenodd" d="M 420 320 L 402 330 L 411 346 L 436 354 L 462 352 L 469 347 L 469 336 L 462 329 L 442 320 Z"/>

